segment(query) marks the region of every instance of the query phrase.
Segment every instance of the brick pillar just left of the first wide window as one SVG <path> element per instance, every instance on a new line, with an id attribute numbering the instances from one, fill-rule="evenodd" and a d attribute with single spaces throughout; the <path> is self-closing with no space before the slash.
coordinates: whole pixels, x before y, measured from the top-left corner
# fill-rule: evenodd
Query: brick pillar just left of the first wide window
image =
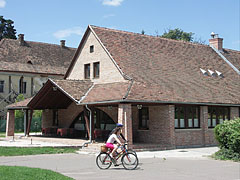
<path id="1" fill-rule="evenodd" d="M 170 145 L 175 148 L 175 106 L 168 105 Z"/>

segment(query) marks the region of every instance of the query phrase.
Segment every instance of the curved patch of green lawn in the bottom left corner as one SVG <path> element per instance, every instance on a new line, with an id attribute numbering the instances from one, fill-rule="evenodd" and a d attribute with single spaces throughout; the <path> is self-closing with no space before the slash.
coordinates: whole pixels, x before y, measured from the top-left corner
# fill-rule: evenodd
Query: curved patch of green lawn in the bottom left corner
<path id="1" fill-rule="evenodd" d="M 0 166 L 0 174 L 1 180 L 72 180 L 54 171 L 21 166 Z"/>

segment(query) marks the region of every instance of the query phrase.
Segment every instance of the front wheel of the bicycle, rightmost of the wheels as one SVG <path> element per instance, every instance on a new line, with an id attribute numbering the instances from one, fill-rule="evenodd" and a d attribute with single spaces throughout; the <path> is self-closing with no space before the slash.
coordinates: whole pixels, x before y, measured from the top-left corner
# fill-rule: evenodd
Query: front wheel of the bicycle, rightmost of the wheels
<path id="1" fill-rule="evenodd" d="M 122 157 L 122 165 L 127 170 L 134 170 L 138 166 L 138 158 L 133 153 L 126 153 Z"/>

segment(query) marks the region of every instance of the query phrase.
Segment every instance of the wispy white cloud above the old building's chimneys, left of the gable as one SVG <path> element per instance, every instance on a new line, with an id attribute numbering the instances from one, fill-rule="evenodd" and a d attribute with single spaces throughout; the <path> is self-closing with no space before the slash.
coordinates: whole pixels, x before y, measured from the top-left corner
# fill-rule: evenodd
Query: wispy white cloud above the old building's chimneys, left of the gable
<path id="1" fill-rule="evenodd" d="M 58 38 L 65 38 L 65 37 L 69 37 L 72 34 L 77 34 L 77 35 L 83 35 L 84 30 L 81 27 L 73 27 L 73 28 L 69 28 L 69 29 L 63 29 L 63 30 L 59 30 L 55 33 L 53 33 L 53 35 Z"/>

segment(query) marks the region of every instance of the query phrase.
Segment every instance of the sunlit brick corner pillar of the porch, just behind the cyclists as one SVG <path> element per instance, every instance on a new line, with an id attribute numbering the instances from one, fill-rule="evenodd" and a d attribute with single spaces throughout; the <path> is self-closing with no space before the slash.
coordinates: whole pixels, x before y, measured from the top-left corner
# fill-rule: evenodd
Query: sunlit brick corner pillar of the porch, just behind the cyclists
<path id="1" fill-rule="evenodd" d="M 131 104 L 118 105 L 118 123 L 123 124 L 123 135 L 128 140 L 128 143 L 130 145 L 133 144 Z"/>

